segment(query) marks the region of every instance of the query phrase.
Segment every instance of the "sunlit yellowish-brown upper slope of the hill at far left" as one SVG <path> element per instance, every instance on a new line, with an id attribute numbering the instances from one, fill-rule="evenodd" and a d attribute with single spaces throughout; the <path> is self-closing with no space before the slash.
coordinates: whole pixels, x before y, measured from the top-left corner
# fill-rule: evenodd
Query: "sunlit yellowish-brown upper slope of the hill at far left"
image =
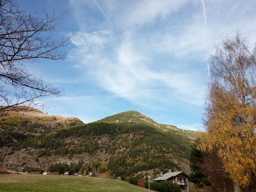
<path id="1" fill-rule="evenodd" d="M 75 117 L 47 115 L 33 108 L 20 111 L 4 111 L 0 113 L 0 146 L 4 144 L 8 132 L 19 134 L 42 134 L 56 129 L 63 129 L 83 122 Z"/>

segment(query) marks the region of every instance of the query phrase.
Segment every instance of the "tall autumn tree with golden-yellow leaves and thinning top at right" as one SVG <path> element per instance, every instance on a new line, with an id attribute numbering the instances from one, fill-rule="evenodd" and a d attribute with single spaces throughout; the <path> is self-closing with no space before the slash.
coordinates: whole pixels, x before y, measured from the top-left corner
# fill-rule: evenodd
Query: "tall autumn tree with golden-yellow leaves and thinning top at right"
<path id="1" fill-rule="evenodd" d="M 216 150 L 234 191 L 252 185 L 256 175 L 256 47 L 236 35 L 216 48 L 206 102 L 206 131 L 198 147 Z"/>

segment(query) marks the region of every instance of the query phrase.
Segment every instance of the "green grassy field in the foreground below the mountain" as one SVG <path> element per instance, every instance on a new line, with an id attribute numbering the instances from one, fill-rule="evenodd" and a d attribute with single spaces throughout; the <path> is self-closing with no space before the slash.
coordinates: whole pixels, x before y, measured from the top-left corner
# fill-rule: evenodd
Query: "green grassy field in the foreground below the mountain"
<path id="1" fill-rule="evenodd" d="M 0 192 L 7 191 L 148 191 L 120 180 L 65 175 L 0 175 Z M 150 190 L 151 191 L 151 190 Z"/>

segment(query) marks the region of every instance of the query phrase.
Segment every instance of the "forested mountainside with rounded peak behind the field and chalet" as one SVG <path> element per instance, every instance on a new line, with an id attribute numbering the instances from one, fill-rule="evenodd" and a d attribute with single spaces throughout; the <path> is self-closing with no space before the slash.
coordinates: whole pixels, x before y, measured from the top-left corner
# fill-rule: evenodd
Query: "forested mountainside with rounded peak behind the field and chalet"
<path id="1" fill-rule="evenodd" d="M 63 165 L 64 172 L 76 165 L 83 174 L 93 171 L 117 177 L 138 172 L 156 175 L 169 168 L 189 173 L 189 152 L 196 132 L 157 124 L 137 111 L 90 124 L 40 114 L 0 116 L 0 161 L 6 168 L 60 172 Z"/>

